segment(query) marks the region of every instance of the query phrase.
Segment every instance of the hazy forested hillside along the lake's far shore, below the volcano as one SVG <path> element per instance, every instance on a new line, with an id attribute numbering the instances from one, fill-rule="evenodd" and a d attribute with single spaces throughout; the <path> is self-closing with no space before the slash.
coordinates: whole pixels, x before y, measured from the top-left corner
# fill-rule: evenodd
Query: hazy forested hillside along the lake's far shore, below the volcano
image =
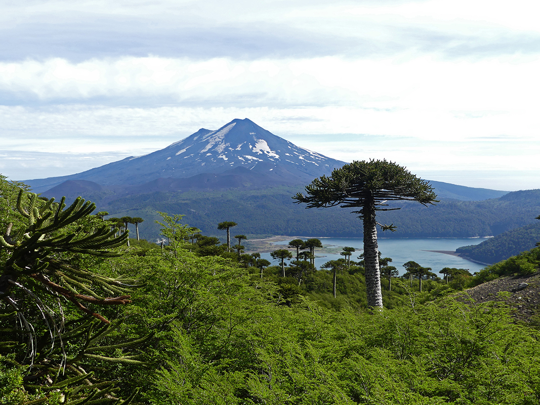
<path id="1" fill-rule="evenodd" d="M 350 209 L 333 207 L 306 210 L 294 204 L 296 187 L 223 192 L 156 192 L 100 199 L 98 210 L 114 217 L 145 218 L 141 235 L 156 240 L 156 211 L 185 214 L 185 221 L 207 234 L 219 235 L 216 226 L 235 221 L 250 235 L 311 235 L 362 237 L 360 221 Z M 90 194 L 92 195 L 92 194 Z M 399 211 L 381 212 L 379 222 L 397 226 L 387 238 L 484 237 L 531 224 L 540 212 L 540 190 L 509 193 L 483 201 L 444 201 L 434 206 L 399 204 Z"/>

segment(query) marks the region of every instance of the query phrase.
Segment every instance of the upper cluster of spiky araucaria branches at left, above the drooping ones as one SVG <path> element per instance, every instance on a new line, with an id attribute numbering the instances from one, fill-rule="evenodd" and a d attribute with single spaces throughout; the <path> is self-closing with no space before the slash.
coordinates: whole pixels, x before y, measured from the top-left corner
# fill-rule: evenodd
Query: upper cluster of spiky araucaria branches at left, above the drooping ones
<path id="1" fill-rule="evenodd" d="M 111 231 L 103 223 L 85 223 L 83 220 L 95 208 L 95 204 L 80 197 L 66 207 L 65 198 L 56 204 L 54 199 L 44 201 L 37 194 L 19 191 L 16 211 L 22 216 L 23 224 L 18 229 L 10 224 L 0 235 L 0 248 L 8 257 L 2 266 L 0 296 L 8 305 L 14 307 L 8 295 L 12 287 L 24 289 L 26 284 L 36 281 L 40 288 L 64 296 L 83 312 L 104 322 L 107 320 L 103 316 L 82 302 L 102 305 L 130 302 L 124 294 L 127 287 L 133 286 L 133 280 L 112 279 L 73 265 L 73 254 L 116 256 L 119 252 L 111 249 L 127 240 L 127 233 L 115 237 L 116 230 Z"/>

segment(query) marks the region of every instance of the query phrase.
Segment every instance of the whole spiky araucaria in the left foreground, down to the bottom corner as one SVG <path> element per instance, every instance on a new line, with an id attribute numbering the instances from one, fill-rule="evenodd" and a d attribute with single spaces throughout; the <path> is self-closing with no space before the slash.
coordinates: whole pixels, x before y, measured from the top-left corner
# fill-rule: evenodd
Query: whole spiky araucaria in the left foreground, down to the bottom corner
<path id="1" fill-rule="evenodd" d="M 0 380 L 11 390 L 0 403 L 131 402 L 136 390 L 121 399 L 118 377 L 104 370 L 143 364 L 136 348 L 149 336 L 118 339 L 120 322 L 90 306 L 131 302 L 137 282 L 89 267 L 119 256 L 127 233 L 115 237 L 90 201 L 68 207 L 0 183 Z"/>

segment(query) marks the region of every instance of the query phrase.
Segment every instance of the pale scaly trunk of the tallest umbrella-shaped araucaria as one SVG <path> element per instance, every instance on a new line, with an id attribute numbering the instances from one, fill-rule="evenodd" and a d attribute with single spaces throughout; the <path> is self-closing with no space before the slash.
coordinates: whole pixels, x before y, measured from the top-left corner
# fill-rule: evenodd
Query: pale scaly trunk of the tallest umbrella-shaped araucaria
<path id="1" fill-rule="evenodd" d="M 363 226 L 368 307 L 382 308 L 379 245 L 377 245 L 377 221 L 375 220 L 375 204 L 373 200 L 363 206 Z"/>

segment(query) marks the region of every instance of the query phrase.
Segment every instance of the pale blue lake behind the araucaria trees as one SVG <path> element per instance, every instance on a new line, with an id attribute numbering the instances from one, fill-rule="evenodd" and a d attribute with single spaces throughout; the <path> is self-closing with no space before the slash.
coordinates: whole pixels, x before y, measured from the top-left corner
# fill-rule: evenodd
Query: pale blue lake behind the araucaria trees
<path id="1" fill-rule="evenodd" d="M 290 239 L 275 242 L 276 249 L 279 245 L 287 245 Z M 301 238 L 308 239 L 308 238 Z M 351 260 L 363 252 L 363 241 L 361 238 L 318 238 L 321 240 L 323 249 L 315 249 L 315 267 L 320 268 L 329 260 L 343 258 L 339 254 L 344 246 L 354 247 L 356 251 L 350 257 Z M 488 238 L 426 238 L 426 239 L 385 239 L 379 238 L 379 251 L 382 257 L 392 258 L 392 266 L 395 266 L 400 274 L 405 273 L 403 264 L 413 260 L 423 267 L 431 267 L 433 272 L 438 272 L 444 267 L 467 268 L 471 273 L 484 268 L 485 265 L 463 259 L 457 256 L 427 252 L 427 251 L 455 251 L 456 248 L 467 245 L 477 245 Z M 321 251 L 322 250 L 322 251 Z M 295 253 L 293 253 L 295 255 Z M 261 253 L 261 258 L 271 261 L 272 264 L 279 265 L 279 260 L 272 259 L 269 253 Z"/>

